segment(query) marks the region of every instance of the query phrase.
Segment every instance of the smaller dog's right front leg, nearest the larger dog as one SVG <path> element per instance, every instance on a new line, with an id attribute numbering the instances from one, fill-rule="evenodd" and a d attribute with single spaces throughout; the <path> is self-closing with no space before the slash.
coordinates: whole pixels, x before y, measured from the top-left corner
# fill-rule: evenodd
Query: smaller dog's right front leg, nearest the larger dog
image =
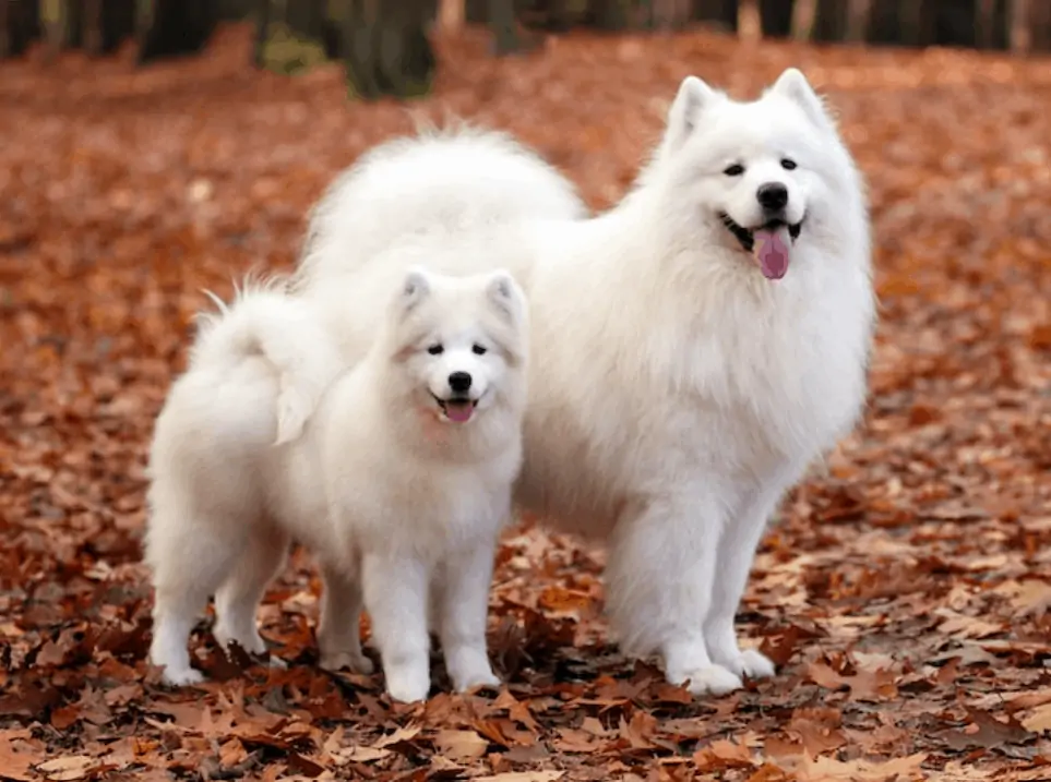
<path id="1" fill-rule="evenodd" d="M 439 635 L 449 677 L 459 691 L 500 684 L 486 647 L 494 550 L 495 541 L 480 534 L 470 542 L 470 548 L 450 556 L 442 567 Z"/>

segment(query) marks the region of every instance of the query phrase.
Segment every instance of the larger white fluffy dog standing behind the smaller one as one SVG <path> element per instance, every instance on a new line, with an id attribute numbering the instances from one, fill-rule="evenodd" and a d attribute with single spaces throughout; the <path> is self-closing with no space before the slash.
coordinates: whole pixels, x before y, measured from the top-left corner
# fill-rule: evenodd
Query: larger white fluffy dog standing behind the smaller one
<path id="1" fill-rule="evenodd" d="M 419 248 L 507 265 L 534 327 L 516 503 L 608 543 L 626 652 L 725 693 L 774 672 L 733 627 L 767 519 L 864 405 L 863 184 L 799 71 L 749 103 L 691 76 L 633 190 L 581 213 L 501 137 L 398 141 L 323 197 L 295 287 L 353 359 Z"/>

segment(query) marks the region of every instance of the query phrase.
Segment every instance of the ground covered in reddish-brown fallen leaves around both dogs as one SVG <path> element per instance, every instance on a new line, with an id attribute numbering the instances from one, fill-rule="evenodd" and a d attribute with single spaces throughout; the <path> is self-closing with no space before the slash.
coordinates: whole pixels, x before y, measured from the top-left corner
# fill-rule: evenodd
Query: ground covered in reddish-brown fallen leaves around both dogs
<path id="1" fill-rule="evenodd" d="M 509 534 L 491 645 L 507 685 L 392 706 L 314 663 L 301 554 L 267 595 L 287 671 L 147 670 L 144 459 L 199 292 L 287 267 L 304 213 L 405 106 L 336 69 L 253 72 L 243 29 L 134 71 L 0 67 L 0 777 L 14 780 L 1051 778 L 1051 62 L 573 36 L 443 48 L 425 117 L 507 128 L 595 206 L 679 80 L 754 95 L 789 64 L 871 184 L 883 303 L 864 425 L 786 497 L 740 622 L 781 666 L 694 702 L 607 642 L 600 552 Z M 600 302 L 599 302 L 600 305 Z"/>

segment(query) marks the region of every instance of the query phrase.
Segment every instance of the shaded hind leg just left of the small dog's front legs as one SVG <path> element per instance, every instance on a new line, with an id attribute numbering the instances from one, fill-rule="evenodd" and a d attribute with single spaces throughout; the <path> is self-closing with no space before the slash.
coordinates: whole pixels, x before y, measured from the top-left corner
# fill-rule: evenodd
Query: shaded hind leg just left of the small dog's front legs
<path id="1" fill-rule="evenodd" d="M 320 665 L 326 671 L 347 667 L 355 673 L 372 673 L 372 661 L 361 651 L 360 574 L 347 566 L 322 562 L 321 621 L 318 625 Z"/>

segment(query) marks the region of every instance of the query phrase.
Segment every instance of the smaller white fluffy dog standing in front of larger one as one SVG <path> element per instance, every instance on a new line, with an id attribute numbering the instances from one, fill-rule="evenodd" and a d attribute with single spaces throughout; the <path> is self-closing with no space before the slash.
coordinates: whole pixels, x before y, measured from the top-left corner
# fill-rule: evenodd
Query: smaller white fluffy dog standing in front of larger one
<path id="1" fill-rule="evenodd" d="M 323 666 L 371 670 L 363 602 L 393 698 L 427 697 L 429 626 L 457 689 L 498 683 L 486 617 L 522 458 L 525 299 L 502 270 L 413 268 L 391 293 L 342 374 L 317 315 L 283 292 L 247 290 L 206 324 L 151 453 L 150 657 L 169 683 L 202 678 L 187 645 L 211 594 L 219 643 L 265 650 L 255 611 L 291 539 L 324 578 Z"/>

